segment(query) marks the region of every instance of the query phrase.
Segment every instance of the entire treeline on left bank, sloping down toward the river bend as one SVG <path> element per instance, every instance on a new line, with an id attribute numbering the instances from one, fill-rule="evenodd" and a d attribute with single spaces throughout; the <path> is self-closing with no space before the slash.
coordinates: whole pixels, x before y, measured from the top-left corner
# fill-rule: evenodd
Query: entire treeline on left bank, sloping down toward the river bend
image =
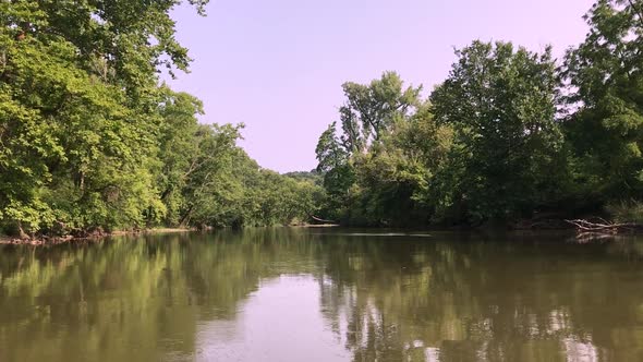
<path id="1" fill-rule="evenodd" d="M 307 218 L 313 181 L 262 169 L 242 125 L 199 124 L 201 101 L 160 83 L 191 61 L 180 2 L 0 2 L 0 233 Z"/>

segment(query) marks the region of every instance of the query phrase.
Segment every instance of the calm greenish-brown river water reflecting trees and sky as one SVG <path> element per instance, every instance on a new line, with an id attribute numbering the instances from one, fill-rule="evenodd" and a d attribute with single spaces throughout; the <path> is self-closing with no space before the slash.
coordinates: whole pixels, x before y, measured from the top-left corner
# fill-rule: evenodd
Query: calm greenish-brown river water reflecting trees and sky
<path id="1" fill-rule="evenodd" d="M 5 245 L 0 361 L 643 361 L 643 239 L 275 228 Z"/>

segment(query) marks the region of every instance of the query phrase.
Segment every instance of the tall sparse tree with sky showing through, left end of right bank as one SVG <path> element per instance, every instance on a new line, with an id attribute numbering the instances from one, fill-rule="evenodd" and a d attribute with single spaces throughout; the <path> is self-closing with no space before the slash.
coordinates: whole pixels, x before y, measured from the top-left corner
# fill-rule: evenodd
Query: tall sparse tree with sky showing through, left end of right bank
<path id="1" fill-rule="evenodd" d="M 336 219 L 348 216 L 347 206 L 355 192 L 360 192 L 355 174 L 361 166 L 356 162 L 363 162 L 364 155 L 372 148 L 380 147 L 396 122 L 414 113 L 422 89 L 404 88 L 395 72 L 385 72 L 369 84 L 347 82 L 342 88 L 347 98 L 339 109 L 342 133 L 337 135 L 337 123 L 333 122 L 322 134 L 316 147 L 317 171 L 324 174 L 324 188 L 328 194 L 325 214 L 327 218 Z"/>

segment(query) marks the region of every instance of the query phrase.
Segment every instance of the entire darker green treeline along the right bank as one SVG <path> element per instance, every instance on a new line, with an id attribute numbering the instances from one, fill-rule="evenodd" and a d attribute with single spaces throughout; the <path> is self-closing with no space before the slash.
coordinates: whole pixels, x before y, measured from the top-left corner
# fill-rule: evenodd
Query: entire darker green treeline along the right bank
<path id="1" fill-rule="evenodd" d="M 643 1 L 598 0 L 560 61 L 510 43 L 456 51 L 425 99 L 392 72 L 345 83 L 316 154 L 325 218 L 482 225 L 643 220 Z"/>

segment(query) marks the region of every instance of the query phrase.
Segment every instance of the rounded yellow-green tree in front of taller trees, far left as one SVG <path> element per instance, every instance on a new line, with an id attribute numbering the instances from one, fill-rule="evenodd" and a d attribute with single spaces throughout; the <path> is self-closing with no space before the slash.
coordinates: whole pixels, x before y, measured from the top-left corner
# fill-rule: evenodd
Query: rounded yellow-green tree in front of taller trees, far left
<path id="1" fill-rule="evenodd" d="M 136 225 L 142 209 L 161 207 L 151 184 L 153 117 L 78 69 L 69 41 L 13 40 L 7 33 L 3 39 L 3 221 L 32 231 L 56 222 L 111 228 Z"/>

